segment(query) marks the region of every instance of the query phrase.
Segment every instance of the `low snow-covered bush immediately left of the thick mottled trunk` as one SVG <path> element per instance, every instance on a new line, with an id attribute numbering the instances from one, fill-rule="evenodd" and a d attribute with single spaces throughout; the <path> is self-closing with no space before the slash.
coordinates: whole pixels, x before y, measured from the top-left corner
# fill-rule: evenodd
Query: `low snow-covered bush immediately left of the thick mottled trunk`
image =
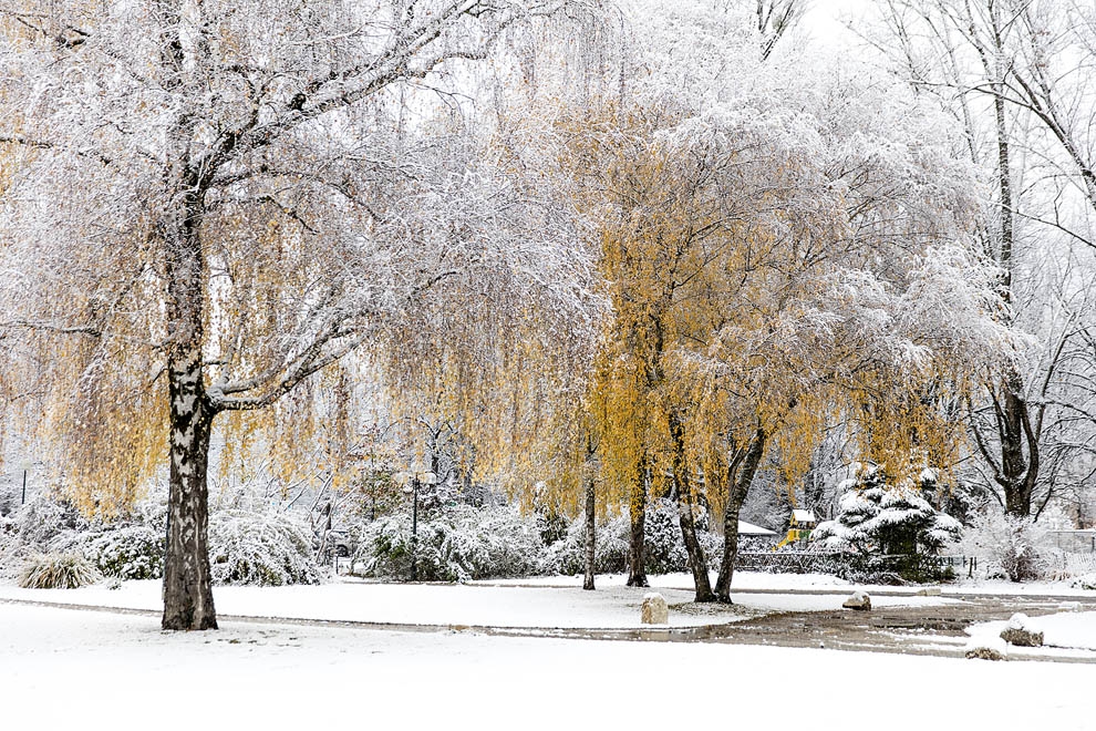
<path id="1" fill-rule="evenodd" d="M 164 575 L 164 534 L 147 525 L 66 534 L 50 547 L 82 555 L 104 576 L 149 579 Z"/>

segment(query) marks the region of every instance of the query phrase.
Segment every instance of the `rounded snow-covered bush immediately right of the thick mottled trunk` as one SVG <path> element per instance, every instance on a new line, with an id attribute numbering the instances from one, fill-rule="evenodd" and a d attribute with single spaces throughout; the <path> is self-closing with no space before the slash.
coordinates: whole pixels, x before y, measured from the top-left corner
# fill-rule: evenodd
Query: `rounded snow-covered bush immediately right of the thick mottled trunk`
<path id="1" fill-rule="evenodd" d="M 282 586 L 320 580 L 308 527 L 285 513 L 214 513 L 209 564 L 216 584 Z"/>

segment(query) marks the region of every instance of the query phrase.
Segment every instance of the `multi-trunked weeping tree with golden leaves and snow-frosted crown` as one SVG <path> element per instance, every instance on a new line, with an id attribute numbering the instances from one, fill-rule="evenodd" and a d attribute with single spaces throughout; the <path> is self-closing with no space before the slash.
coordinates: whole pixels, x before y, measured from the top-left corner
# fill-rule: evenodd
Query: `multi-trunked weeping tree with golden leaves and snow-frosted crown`
<path id="1" fill-rule="evenodd" d="M 817 60 L 766 60 L 733 13 L 662 9 L 674 30 L 644 39 L 630 93 L 562 123 L 613 307 L 587 405 L 632 517 L 629 581 L 645 583 L 645 501 L 670 494 L 697 600 L 730 600 L 737 513 L 771 449 L 794 484 L 840 416 L 896 474 L 948 463 L 951 404 L 1022 338 L 970 244 L 976 179 L 932 110 Z M 687 61 L 682 33 L 702 49 Z M 714 589 L 709 507 L 724 522 Z"/>

